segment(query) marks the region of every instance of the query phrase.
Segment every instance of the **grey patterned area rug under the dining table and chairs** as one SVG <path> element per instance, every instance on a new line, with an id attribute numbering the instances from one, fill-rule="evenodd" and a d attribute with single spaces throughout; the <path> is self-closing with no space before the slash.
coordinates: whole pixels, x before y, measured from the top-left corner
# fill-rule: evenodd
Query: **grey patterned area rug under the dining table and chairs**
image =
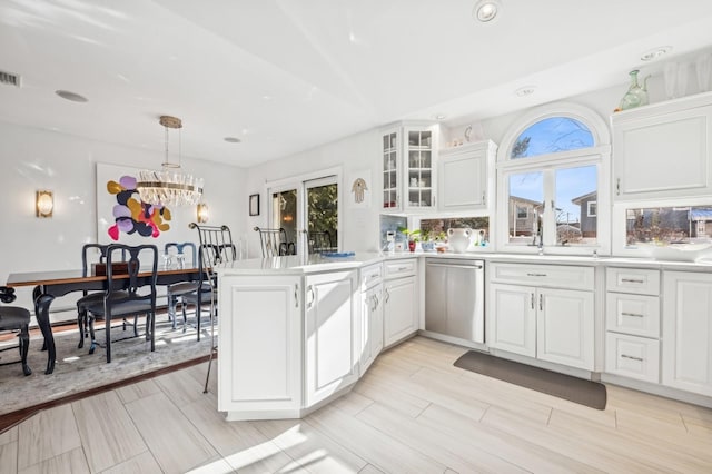
<path id="1" fill-rule="evenodd" d="M 111 363 L 107 364 L 106 349 L 97 347 L 95 354 L 89 354 L 89 342 L 79 349 L 78 330 L 55 332 L 57 347 L 57 363 L 55 372 L 44 374 L 47 367 L 47 352 L 42 352 L 42 337 L 32 336 L 28 365 L 32 369 L 29 376 L 22 375 L 20 364 L 0 366 L 0 416 L 21 411 L 23 408 L 47 405 L 49 402 L 66 399 L 73 394 L 96 389 L 119 381 L 130 379 L 141 374 L 160 371 L 161 368 L 186 365 L 190 361 L 204 361 L 210 352 L 209 329 L 201 327 L 200 342 L 197 340 L 196 329 L 188 326 L 186 332 L 179 325 L 172 329 L 171 324 L 157 318 L 156 350 L 150 352 L 150 343 L 144 337 L 144 325 L 139 319 L 139 337 L 132 336 L 132 327 L 126 332 L 121 326 L 111 327 Z M 205 326 L 208 326 L 206 322 Z M 216 332 L 217 334 L 217 332 Z M 125 338 L 123 340 L 117 340 Z M 97 342 L 105 340 L 105 332 L 97 330 Z M 14 344 L 14 342 L 12 342 Z M 7 345 L 8 343 L 3 343 Z M 0 353 L 2 362 L 17 359 L 16 350 Z"/>

